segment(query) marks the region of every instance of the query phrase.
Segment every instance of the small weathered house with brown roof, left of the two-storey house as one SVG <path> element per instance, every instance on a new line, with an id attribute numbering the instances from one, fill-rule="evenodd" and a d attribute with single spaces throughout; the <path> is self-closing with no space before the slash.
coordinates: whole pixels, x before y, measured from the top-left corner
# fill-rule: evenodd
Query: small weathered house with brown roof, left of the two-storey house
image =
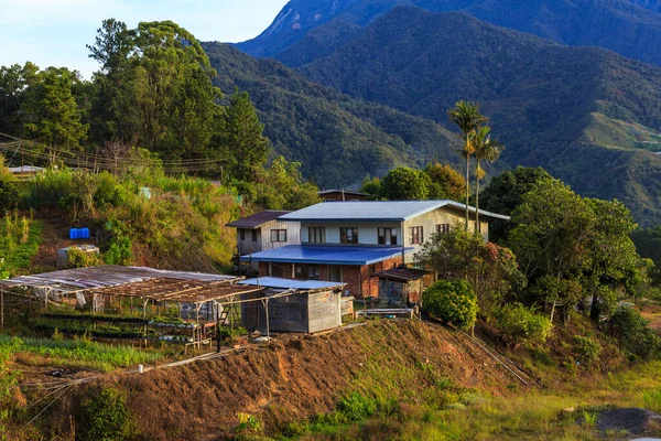
<path id="1" fill-rule="evenodd" d="M 291 212 L 267 209 L 227 224 L 228 227 L 237 228 L 239 256 L 250 257 L 254 252 L 301 244 L 300 224 L 278 219 L 289 213 Z"/>

